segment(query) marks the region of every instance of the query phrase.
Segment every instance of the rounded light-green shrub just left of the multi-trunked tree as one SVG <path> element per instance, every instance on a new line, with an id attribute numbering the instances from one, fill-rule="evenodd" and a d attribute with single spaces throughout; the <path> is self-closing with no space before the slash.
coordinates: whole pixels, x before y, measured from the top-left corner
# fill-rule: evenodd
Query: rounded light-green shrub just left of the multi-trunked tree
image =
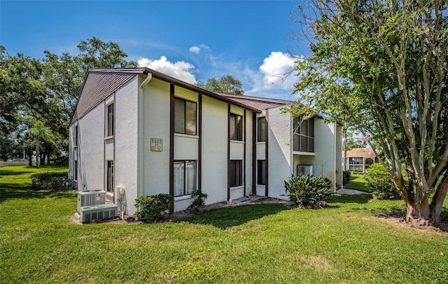
<path id="1" fill-rule="evenodd" d="M 372 196 L 377 199 L 400 198 L 398 190 L 393 184 L 392 175 L 381 163 L 373 163 L 367 169 L 365 175 L 367 187 L 372 191 Z"/>

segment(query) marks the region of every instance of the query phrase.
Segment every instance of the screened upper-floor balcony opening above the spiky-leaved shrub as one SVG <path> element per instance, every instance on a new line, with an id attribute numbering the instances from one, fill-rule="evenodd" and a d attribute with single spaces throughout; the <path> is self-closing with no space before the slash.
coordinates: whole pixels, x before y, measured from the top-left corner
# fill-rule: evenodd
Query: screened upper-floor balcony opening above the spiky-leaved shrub
<path id="1" fill-rule="evenodd" d="M 293 131 L 294 151 L 314 152 L 314 118 L 295 117 Z"/>

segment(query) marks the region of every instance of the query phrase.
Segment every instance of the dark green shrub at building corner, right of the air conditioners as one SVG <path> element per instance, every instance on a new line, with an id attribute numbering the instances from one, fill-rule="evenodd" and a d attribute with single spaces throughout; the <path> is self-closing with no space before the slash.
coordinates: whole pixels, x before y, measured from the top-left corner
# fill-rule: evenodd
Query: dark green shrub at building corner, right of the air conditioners
<path id="1" fill-rule="evenodd" d="M 174 212 L 174 197 L 169 194 L 141 196 L 135 200 L 134 217 L 143 222 L 153 222 L 163 219 L 166 214 Z"/>

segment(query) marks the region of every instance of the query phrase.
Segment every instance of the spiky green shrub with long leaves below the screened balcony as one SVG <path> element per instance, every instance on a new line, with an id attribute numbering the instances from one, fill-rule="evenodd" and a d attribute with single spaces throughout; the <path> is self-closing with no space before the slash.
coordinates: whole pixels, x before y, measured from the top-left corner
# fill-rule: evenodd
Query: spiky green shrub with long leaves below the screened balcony
<path id="1" fill-rule="evenodd" d="M 332 182 L 317 175 L 291 175 L 285 188 L 300 208 L 323 208 L 327 205 L 325 198 L 334 192 Z"/>

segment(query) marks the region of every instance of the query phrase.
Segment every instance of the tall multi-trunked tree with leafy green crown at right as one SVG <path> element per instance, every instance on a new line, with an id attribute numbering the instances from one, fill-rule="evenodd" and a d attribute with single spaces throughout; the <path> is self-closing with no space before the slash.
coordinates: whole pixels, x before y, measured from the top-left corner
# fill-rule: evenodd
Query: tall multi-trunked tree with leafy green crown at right
<path id="1" fill-rule="evenodd" d="M 295 84 L 310 107 L 296 111 L 312 107 L 373 138 L 406 221 L 439 222 L 448 191 L 447 1 L 311 2 L 295 19 L 311 51 L 297 60 Z"/>

